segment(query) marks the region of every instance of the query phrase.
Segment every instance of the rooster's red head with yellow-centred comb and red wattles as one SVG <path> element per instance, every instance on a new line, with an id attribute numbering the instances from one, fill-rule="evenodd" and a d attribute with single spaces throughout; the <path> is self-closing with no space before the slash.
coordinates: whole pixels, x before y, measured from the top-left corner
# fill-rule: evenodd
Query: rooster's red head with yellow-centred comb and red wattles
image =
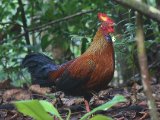
<path id="1" fill-rule="evenodd" d="M 110 17 L 105 13 L 98 13 L 98 19 L 101 21 L 100 29 L 102 29 L 105 34 L 114 32 L 114 21 Z"/>

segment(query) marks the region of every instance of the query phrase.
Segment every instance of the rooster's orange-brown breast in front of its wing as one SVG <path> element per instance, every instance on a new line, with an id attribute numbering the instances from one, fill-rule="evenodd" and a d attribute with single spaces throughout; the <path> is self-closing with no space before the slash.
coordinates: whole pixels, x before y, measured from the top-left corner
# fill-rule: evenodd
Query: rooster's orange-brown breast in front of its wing
<path id="1" fill-rule="evenodd" d="M 93 61 L 95 61 L 96 67 L 86 87 L 88 90 L 99 91 L 107 87 L 114 74 L 113 46 L 109 46 L 107 49 L 94 55 Z"/>

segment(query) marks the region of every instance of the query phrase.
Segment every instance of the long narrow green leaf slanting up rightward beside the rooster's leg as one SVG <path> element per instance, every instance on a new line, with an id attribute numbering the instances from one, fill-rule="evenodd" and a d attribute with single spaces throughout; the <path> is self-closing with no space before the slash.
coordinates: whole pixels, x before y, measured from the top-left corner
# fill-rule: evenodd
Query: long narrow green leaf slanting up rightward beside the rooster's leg
<path id="1" fill-rule="evenodd" d="M 109 108 L 111 108 L 112 106 L 116 105 L 119 102 L 125 102 L 126 99 L 124 96 L 122 95 L 116 95 L 111 101 L 100 105 L 99 107 L 96 107 L 95 109 L 93 109 L 91 112 L 86 113 L 80 120 L 86 120 L 88 118 L 88 116 L 90 116 L 91 114 L 100 111 L 100 110 L 108 110 Z"/>

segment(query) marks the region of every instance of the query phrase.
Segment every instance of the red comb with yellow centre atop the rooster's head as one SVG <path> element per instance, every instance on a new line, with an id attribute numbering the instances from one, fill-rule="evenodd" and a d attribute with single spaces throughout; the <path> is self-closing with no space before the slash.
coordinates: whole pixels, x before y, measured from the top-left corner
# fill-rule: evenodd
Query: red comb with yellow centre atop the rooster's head
<path id="1" fill-rule="evenodd" d="M 98 18 L 102 22 L 114 23 L 113 20 L 108 17 L 105 13 L 98 13 Z"/>

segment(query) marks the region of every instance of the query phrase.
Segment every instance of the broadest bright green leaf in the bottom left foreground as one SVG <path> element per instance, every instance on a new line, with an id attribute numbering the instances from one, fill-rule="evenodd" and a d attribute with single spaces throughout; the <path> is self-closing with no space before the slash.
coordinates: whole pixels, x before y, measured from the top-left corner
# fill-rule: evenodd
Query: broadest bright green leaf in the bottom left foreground
<path id="1" fill-rule="evenodd" d="M 53 120 L 38 100 L 18 101 L 14 105 L 19 112 L 31 116 L 35 120 Z"/>

